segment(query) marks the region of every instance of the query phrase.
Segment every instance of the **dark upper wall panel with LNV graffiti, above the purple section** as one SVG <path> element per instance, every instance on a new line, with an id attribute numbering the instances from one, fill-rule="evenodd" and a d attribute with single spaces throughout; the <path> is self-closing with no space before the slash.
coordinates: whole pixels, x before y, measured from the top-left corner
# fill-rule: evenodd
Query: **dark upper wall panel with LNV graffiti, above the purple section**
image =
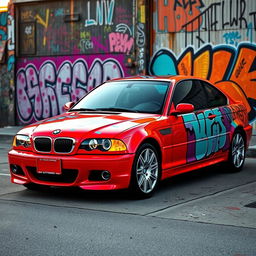
<path id="1" fill-rule="evenodd" d="M 21 55 L 125 53 L 134 47 L 133 1 L 51 1 L 19 8 Z"/>

